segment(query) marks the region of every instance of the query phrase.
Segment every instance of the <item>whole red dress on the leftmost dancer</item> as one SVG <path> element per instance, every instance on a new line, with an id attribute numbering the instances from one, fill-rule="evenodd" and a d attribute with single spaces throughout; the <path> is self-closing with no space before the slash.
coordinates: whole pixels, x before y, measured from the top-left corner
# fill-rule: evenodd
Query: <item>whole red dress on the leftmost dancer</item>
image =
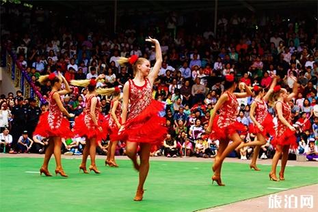
<path id="1" fill-rule="evenodd" d="M 63 117 L 62 111 L 59 110 L 53 94 L 49 94 L 49 111 L 40 116 L 34 135 L 41 135 L 42 137 L 63 137 L 71 138 L 74 136 L 70 130 L 70 122 Z M 61 96 L 59 96 L 61 99 Z"/>

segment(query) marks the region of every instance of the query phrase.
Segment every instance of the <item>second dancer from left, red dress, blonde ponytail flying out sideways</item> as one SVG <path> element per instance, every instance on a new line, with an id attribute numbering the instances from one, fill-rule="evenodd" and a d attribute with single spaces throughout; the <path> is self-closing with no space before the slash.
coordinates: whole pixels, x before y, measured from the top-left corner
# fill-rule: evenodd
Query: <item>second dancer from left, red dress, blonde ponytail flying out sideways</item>
<path id="1" fill-rule="evenodd" d="M 96 97 L 100 90 L 96 90 L 96 83 L 98 79 L 105 78 L 105 75 L 99 75 L 96 79 L 84 79 L 84 80 L 72 80 L 71 85 L 88 87 L 88 94 L 85 96 L 85 109 L 82 114 L 75 119 L 74 133 L 79 137 L 86 137 L 86 144 L 83 150 L 83 158 L 79 170 L 83 170 L 85 174 L 88 174 L 86 170 L 86 161 L 88 155 L 90 155 L 90 171 L 94 171 L 96 174 L 101 174 L 96 168 L 96 145 L 97 142 L 105 139 L 106 122 L 105 118 L 101 115 L 101 103 Z M 109 93 L 114 92 L 114 88 L 107 89 Z"/>

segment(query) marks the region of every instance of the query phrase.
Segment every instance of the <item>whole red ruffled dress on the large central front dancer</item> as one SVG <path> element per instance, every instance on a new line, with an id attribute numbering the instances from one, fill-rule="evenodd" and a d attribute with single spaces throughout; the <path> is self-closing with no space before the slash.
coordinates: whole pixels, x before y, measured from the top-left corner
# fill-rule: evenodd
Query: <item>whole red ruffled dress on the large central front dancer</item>
<path id="1" fill-rule="evenodd" d="M 118 133 L 118 140 L 161 144 L 167 133 L 165 118 L 159 116 L 163 103 L 153 99 L 153 88 L 149 79 L 137 86 L 129 79 L 129 113 L 127 122 Z"/>

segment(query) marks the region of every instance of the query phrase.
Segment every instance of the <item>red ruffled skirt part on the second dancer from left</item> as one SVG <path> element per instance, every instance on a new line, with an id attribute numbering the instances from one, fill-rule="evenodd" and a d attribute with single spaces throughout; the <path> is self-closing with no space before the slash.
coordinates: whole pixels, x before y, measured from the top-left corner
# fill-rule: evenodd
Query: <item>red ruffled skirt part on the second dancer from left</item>
<path id="1" fill-rule="evenodd" d="M 75 125 L 74 125 L 74 133 L 77 137 L 87 137 L 91 139 L 92 137 L 96 137 L 96 142 L 100 142 L 101 140 L 105 140 L 107 137 L 107 122 L 103 114 L 98 114 L 98 126 L 102 127 L 102 131 L 100 131 L 97 127 L 94 126 L 94 123 L 90 123 L 90 127 L 85 124 L 85 114 L 82 113 L 81 115 L 75 118 Z"/>

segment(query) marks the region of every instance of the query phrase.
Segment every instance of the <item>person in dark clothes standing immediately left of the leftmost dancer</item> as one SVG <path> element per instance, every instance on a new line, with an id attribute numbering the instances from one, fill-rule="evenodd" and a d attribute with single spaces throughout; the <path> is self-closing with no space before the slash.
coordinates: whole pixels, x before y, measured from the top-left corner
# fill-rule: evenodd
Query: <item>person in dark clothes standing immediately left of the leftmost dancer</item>
<path id="1" fill-rule="evenodd" d="M 29 107 L 27 108 L 27 132 L 29 137 L 32 137 L 41 114 L 40 107 L 36 106 L 36 100 L 29 98 Z"/>

